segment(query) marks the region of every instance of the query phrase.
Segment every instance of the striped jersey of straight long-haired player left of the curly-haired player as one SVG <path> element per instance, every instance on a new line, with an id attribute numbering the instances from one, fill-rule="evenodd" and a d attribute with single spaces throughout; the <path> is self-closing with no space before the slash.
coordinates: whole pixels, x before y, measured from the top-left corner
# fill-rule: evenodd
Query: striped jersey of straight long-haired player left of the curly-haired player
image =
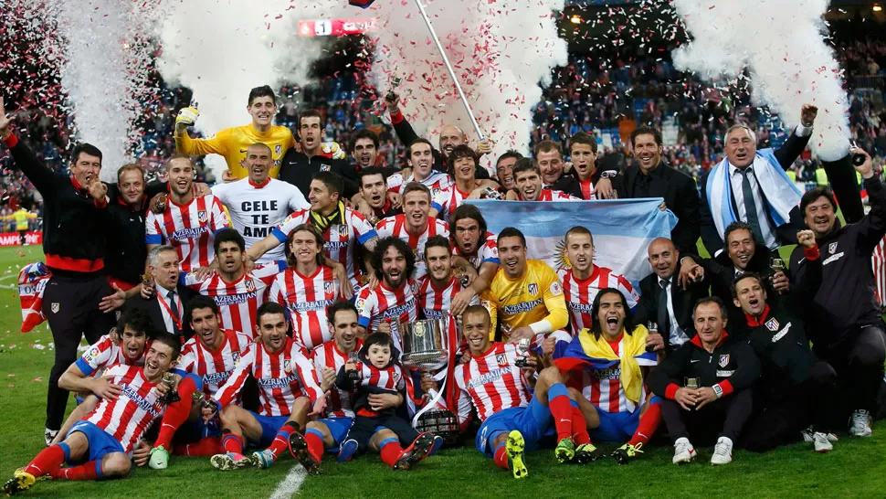
<path id="1" fill-rule="evenodd" d="M 338 281 L 325 265 L 310 276 L 287 269 L 274 279 L 268 295 L 269 302 L 280 303 L 290 311 L 292 336 L 309 350 L 332 339 L 326 308 L 338 298 Z"/>

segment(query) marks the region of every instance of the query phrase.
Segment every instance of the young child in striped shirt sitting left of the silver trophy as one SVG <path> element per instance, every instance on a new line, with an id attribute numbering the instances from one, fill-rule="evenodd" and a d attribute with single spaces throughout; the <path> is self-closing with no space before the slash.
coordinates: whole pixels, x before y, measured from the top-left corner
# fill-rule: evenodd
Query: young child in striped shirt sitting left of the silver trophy
<path id="1" fill-rule="evenodd" d="M 396 438 L 379 443 L 382 461 L 395 470 L 408 470 L 427 457 L 434 445 L 434 435 L 428 432 L 419 435 L 408 421 L 396 415 L 396 409 L 375 411 L 368 400 L 371 394 L 406 392 L 403 369 L 397 364 L 399 356 L 390 335 L 370 334 L 357 354 L 359 362 L 345 363 L 335 378 L 335 385 L 343 390 L 356 390 L 353 426 L 342 449 L 365 451 L 375 432 L 385 428 L 394 432 Z M 401 442 L 411 442 L 411 445 L 404 450 Z"/>

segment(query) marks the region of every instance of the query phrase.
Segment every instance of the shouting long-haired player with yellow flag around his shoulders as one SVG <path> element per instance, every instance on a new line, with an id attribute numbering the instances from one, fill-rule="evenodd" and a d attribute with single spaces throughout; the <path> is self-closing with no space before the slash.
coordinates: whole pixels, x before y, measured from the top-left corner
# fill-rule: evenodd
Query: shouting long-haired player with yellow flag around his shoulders
<path id="1" fill-rule="evenodd" d="M 586 373 L 583 398 L 593 404 L 600 420 L 591 436 L 606 443 L 627 440 L 612 453 L 617 462 L 627 464 L 642 452 L 661 422 L 661 399 L 643 385 L 644 370 L 656 366 L 658 356 L 647 348 L 649 330 L 634 324 L 628 299 L 617 289 L 597 293 L 591 316 L 591 328 L 581 330 L 564 349 L 558 348 L 554 362 L 564 373 Z"/>

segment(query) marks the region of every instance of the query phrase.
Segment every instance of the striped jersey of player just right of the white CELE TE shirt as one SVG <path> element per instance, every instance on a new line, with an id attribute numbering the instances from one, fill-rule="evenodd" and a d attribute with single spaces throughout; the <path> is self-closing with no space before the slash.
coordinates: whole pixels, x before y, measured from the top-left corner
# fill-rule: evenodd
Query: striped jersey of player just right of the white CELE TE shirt
<path id="1" fill-rule="evenodd" d="M 330 260 L 344 265 L 348 279 L 353 284 L 353 290 L 356 291 L 360 287 L 358 282 L 360 265 L 354 256 L 354 246 L 372 240 L 375 237 L 375 229 L 362 213 L 351 208 L 344 208 L 344 222 L 344 225 L 332 224 L 323 231 L 323 240 L 326 241 L 323 251 Z M 301 209 L 283 220 L 271 233 L 281 244 L 288 244 L 292 230 L 308 223 L 311 223 L 311 211 Z"/>

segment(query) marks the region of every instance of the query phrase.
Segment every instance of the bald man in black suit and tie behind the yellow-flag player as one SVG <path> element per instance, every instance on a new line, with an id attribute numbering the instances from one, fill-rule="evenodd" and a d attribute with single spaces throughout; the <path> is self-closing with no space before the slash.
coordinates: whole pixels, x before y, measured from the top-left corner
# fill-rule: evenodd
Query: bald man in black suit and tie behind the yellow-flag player
<path id="1" fill-rule="evenodd" d="M 695 335 L 692 311 L 695 303 L 708 295 L 709 282 L 701 267 L 691 259 L 686 263 L 686 279 L 680 281 L 680 250 L 670 239 L 654 239 L 649 244 L 652 273 L 640 281 L 643 298 L 638 304 L 636 320 L 638 324 L 658 324 L 664 347 L 669 352 Z"/>

